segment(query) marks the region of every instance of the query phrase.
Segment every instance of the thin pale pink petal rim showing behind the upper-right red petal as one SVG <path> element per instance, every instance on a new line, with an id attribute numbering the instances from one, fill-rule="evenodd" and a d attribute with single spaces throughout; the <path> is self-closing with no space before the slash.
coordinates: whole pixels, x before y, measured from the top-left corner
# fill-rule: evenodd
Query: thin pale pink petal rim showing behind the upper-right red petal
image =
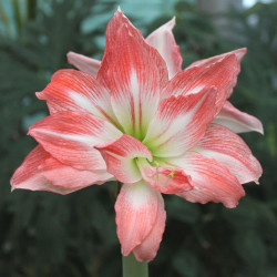
<path id="1" fill-rule="evenodd" d="M 212 57 L 209 59 L 196 61 L 196 62 L 192 63 L 189 66 L 187 66 L 186 70 L 194 68 L 194 66 L 205 66 L 206 68 L 206 66 L 209 66 L 211 64 L 214 64 L 216 62 L 222 61 L 226 55 L 235 54 L 237 58 L 237 61 L 238 61 L 238 72 L 237 72 L 237 74 L 238 74 L 240 72 L 240 62 L 242 62 L 244 55 L 246 54 L 246 52 L 247 52 L 246 48 L 240 48 L 240 49 L 237 49 L 237 50 L 224 53 L 224 54 Z M 230 84 L 230 86 L 228 89 L 228 96 L 232 94 L 233 88 L 236 86 L 236 84 L 237 84 L 237 79 L 234 78 L 233 83 Z"/>

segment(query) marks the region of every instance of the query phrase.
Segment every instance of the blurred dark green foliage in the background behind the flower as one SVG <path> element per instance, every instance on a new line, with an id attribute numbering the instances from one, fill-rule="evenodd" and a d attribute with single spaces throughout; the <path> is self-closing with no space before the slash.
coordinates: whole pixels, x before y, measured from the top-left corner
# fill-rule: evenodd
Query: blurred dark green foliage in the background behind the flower
<path id="1" fill-rule="evenodd" d="M 25 135 L 30 123 L 48 114 L 34 91 L 66 64 L 72 50 L 99 57 L 95 38 L 105 25 L 84 21 L 115 10 L 98 0 L 25 1 L 21 14 L 12 1 L 17 35 L 9 35 L 9 17 L 0 7 L 0 276 L 121 276 L 120 246 L 114 224 L 113 183 L 68 196 L 47 192 L 10 193 L 9 178 L 35 145 Z M 39 3 L 40 2 L 40 3 Z M 48 9 L 43 4 L 47 2 Z M 100 8 L 95 11 L 94 7 Z M 165 196 L 167 220 L 153 277 L 277 276 L 277 3 L 256 4 L 243 13 L 225 14 L 228 35 L 192 3 L 175 7 L 174 33 L 184 65 L 236 48 L 247 47 L 232 103 L 259 117 L 265 136 L 244 134 L 264 167 L 260 185 L 245 185 L 247 196 L 235 209 L 220 204 L 198 205 Z M 168 18 L 147 27 L 151 32 Z M 232 35 L 239 33 L 239 38 Z M 146 33 L 145 33 L 146 34 Z"/>

